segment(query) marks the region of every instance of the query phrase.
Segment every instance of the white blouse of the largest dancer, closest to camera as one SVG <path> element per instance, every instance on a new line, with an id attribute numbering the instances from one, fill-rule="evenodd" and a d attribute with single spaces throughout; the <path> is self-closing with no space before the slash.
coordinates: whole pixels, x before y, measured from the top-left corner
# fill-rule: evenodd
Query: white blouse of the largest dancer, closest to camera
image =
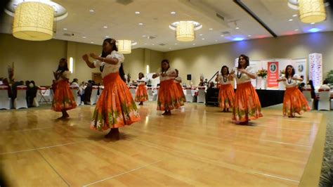
<path id="1" fill-rule="evenodd" d="M 93 65 L 95 65 L 95 67 L 98 68 L 103 67 L 102 78 L 105 77 L 106 75 L 109 75 L 110 73 L 119 72 L 119 67 L 125 60 L 124 55 L 122 53 L 118 53 L 117 51 L 112 51 L 112 53 L 105 58 L 117 58 L 118 63 L 108 64 L 101 62 L 100 60 L 95 60 L 93 62 Z"/>

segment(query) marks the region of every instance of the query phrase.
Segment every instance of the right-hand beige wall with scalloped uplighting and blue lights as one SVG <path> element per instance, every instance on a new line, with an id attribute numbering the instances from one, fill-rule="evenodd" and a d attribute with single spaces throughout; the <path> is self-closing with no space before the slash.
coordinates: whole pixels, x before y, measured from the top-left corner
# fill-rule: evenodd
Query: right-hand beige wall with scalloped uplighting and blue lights
<path id="1" fill-rule="evenodd" d="M 222 65 L 234 66 L 234 60 L 240 54 L 246 54 L 252 60 L 268 58 L 308 58 L 310 53 L 322 53 L 323 77 L 333 70 L 333 32 L 298 34 L 287 37 L 252 39 L 230 42 L 192 49 L 170 51 L 164 54 L 171 66 L 179 70 L 180 76 L 186 79 L 192 75 L 196 85 L 200 74 L 210 78 Z"/>

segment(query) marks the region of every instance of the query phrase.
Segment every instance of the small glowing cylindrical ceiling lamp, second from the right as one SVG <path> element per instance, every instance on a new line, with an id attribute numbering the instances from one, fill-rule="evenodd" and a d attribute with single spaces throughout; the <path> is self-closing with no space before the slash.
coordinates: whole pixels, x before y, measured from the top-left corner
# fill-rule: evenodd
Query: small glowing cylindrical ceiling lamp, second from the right
<path id="1" fill-rule="evenodd" d="M 192 21 L 180 21 L 176 27 L 176 39 L 178 41 L 193 41 L 195 39 L 194 25 Z"/>

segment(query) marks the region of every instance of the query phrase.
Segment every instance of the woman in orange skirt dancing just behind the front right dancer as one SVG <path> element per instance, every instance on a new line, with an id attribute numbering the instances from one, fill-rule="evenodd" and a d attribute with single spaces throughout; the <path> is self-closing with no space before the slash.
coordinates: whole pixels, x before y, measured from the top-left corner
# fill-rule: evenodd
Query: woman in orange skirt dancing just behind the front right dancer
<path id="1" fill-rule="evenodd" d="M 221 74 L 218 74 L 215 79 L 215 81 L 220 84 L 218 106 L 223 108 L 223 112 L 228 112 L 229 108 L 233 108 L 235 91 L 233 91 L 233 85 L 230 82 L 232 80 L 233 77 L 229 76 L 229 68 L 226 65 L 223 65 L 221 68 Z"/>

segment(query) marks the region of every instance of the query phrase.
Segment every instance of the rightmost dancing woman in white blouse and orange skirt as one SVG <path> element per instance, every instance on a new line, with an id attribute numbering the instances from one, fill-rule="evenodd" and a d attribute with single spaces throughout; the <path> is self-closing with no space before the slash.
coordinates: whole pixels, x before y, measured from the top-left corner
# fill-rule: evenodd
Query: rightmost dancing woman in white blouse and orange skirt
<path id="1" fill-rule="evenodd" d="M 284 82 L 286 86 L 283 97 L 283 115 L 288 115 L 288 117 L 295 117 L 295 113 L 301 115 L 311 109 L 303 93 L 298 89 L 298 81 L 303 81 L 303 79 L 295 75 L 292 65 L 287 65 L 285 76 L 278 79 L 278 82 Z"/>

